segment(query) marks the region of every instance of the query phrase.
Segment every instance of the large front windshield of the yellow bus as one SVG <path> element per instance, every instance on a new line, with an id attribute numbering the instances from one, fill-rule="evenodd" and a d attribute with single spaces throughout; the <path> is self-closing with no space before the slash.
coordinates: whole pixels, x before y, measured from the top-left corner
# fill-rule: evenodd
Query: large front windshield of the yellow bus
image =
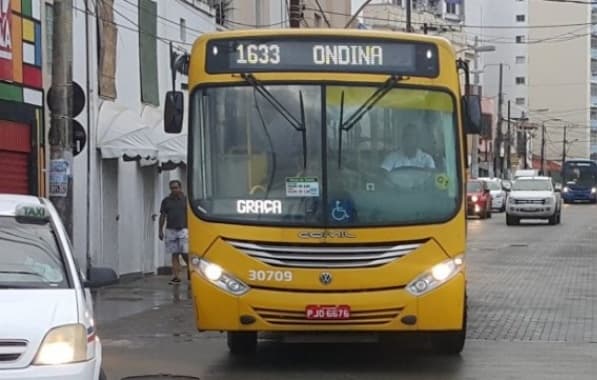
<path id="1" fill-rule="evenodd" d="M 346 123 L 380 86 L 262 85 L 275 102 L 250 85 L 195 91 L 194 211 L 309 227 L 450 219 L 461 202 L 453 96 L 394 87 Z"/>

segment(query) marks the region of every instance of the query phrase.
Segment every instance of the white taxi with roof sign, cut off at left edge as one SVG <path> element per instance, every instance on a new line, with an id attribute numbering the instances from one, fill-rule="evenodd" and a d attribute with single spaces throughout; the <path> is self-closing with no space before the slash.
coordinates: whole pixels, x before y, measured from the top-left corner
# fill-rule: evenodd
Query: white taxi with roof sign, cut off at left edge
<path id="1" fill-rule="evenodd" d="M 58 213 L 43 198 L 0 194 L 0 379 L 98 380 L 102 346 L 85 286 L 109 269 L 78 270 Z"/>

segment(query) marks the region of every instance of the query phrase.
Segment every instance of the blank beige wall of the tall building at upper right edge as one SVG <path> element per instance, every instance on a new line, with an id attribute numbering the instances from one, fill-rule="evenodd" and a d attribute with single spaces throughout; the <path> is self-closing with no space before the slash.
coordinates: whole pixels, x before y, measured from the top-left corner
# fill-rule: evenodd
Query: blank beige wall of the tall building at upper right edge
<path id="1" fill-rule="evenodd" d="M 590 5 L 530 2 L 530 25 L 591 22 Z M 568 157 L 589 157 L 591 41 L 589 26 L 533 28 L 529 40 L 529 107 L 549 109 L 546 158 L 559 160 L 563 148 L 563 125 L 568 125 Z M 562 38 L 567 37 L 568 38 Z M 572 37 L 572 38 L 570 38 Z M 558 41 L 558 39 L 560 41 Z"/>

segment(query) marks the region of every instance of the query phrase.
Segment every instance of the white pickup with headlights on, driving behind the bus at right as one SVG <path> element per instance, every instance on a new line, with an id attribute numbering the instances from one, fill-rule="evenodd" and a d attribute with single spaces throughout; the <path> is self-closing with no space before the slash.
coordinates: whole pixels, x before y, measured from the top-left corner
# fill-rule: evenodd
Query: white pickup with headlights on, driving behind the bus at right
<path id="1" fill-rule="evenodd" d="M 549 177 L 520 177 L 512 183 L 506 202 L 506 224 L 521 219 L 547 219 L 549 224 L 562 220 L 562 199 Z"/>

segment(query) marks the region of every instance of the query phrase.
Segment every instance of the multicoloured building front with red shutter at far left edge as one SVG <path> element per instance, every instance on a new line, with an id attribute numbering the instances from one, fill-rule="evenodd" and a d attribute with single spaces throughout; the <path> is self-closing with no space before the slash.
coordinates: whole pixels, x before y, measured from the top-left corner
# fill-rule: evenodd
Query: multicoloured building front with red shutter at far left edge
<path id="1" fill-rule="evenodd" d="M 0 0 L 0 192 L 45 194 L 39 0 Z"/>

